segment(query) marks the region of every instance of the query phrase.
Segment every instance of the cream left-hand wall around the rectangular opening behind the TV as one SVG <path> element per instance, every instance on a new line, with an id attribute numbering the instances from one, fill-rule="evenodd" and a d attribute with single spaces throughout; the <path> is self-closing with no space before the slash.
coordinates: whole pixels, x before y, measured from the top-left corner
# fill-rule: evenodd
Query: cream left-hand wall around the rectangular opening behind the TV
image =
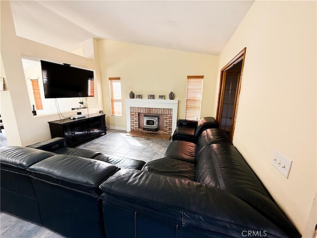
<path id="1" fill-rule="evenodd" d="M 94 99 L 89 99 L 89 113 L 101 110 L 103 105 L 97 41 L 93 41 L 94 53 L 96 55 L 95 60 L 92 60 L 17 37 L 9 1 L 0 1 L 0 4 L 1 57 L 9 88 L 8 91 L 1 92 L 1 98 L 3 96 L 6 99 L 5 101 L 1 100 L 1 113 L 6 127 L 8 144 L 25 146 L 50 139 L 51 133 L 48 121 L 59 119 L 57 113 L 48 116 L 33 117 L 21 58 L 34 58 L 36 60 L 48 60 L 59 63 L 67 60 L 67 63 L 71 65 L 94 70 L 95 95 L 97 93 L 97 96 Z M 69 105 L 69 110 L 72 107 L 73 105 Z M 70 117 L 73 114 L 74 112 L 70 111 L 63 115 Z M 8 133 L 11 130 L 17 130 L 19 133 Z"/>

